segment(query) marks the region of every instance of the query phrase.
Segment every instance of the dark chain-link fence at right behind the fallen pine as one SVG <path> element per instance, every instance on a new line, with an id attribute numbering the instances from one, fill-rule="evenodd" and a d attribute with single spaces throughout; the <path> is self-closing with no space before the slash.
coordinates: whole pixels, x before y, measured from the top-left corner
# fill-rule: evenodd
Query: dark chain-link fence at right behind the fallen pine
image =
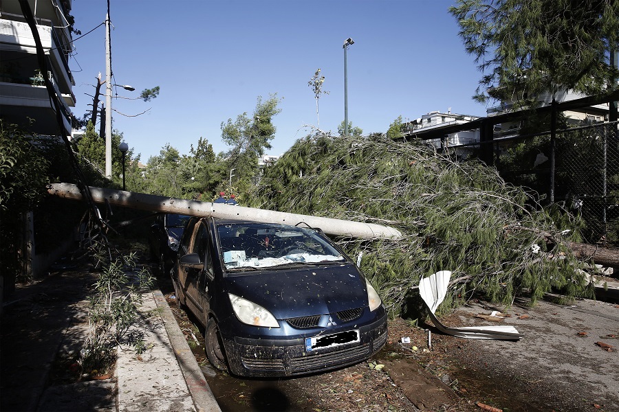
<path id="1" fill-rule="evenodd" d="M 542 204 L 561 203 L 582 217 L 589 243 L 619 244 L 618 123 L 599 123 L 550 132 L 495 137 L 490 143 L 503 179 L 528 187 Z M 450 150 L 477 157 L 479 148 Z M 553 150 L 554 147 L 554 150 Z"/>

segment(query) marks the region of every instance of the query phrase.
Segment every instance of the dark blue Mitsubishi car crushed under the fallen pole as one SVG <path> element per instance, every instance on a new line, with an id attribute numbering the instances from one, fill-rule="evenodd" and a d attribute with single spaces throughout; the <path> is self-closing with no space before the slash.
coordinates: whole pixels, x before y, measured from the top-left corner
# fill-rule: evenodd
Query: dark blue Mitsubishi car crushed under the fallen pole
<path id="1" fill-rule="evenodd" d="M 172 272 L 206 354 L 237 376 L 296 376 L 365 361 L 387 341 L 376 290 L 320 230 L 189 220 Z"/>

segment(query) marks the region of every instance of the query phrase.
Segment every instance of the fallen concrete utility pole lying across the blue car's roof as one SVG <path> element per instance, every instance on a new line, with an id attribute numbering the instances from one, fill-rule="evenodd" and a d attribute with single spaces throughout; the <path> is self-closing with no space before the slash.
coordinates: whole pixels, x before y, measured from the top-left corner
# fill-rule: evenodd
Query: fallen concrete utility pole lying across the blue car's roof
<path id="1" fill-rule="evenodd" d="M 123 190 L 102 189 L 89 186 L 92 200 L 96 203 L 109 202 L 111 205 L 131 207 L 133 209 L 160 211 L 164 213 L 183 214 L 190 216 L 212 216 L 231 220 L 252 220 L 256 222 L 283 223 L 298 225 L 306 223 L 310 227 L 318 227 L 325 233 L 334 236 L 349 236 L 362 239 L 398 239 L 402 233 L 392 227 L 372 223 L 352 222 L 350 220 L 321 218 L 302 214 L 284 213 L 257 209 L 254 207 L 232 206 L 223 203 L 188 201 L 186 199 L 169 198 L 154 194 L 125 192 Z M 71 183 L 52 183 L 47 192 L 62 198 L 82 200 L 77 185 Z"/>

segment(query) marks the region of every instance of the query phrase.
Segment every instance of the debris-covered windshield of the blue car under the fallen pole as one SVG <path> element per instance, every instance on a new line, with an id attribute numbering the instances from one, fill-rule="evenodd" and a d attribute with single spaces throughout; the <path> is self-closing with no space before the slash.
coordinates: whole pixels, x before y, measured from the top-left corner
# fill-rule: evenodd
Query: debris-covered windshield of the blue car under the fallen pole
<path id="1" fill-rule="evenodd" d="M 239 223 L 218 225 L 217 234 L 228 271 L 345 261 L 329 240 L 303 227 Z"/>

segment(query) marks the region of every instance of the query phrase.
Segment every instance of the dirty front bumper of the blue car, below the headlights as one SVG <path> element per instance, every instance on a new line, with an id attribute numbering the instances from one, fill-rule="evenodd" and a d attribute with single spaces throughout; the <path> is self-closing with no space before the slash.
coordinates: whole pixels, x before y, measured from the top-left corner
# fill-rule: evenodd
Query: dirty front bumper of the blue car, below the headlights
<path id="1" fill-rule="evenodd" d="M 362 325 L 359 341 L 307 351 L 305 339 L 224 339 L 232 374 L 253 377 L 296 376 L 353 365 L 376 354 L 387 342 L 387 313 Z M 308 336 L 309 337 L 309 336 Z"/>

